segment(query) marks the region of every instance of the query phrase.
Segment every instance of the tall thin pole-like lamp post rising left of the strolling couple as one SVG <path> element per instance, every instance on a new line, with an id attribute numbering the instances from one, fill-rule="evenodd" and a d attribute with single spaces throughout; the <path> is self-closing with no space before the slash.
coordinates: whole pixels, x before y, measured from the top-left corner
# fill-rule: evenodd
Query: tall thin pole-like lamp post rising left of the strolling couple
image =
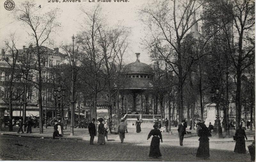
<path id="1" fill-rule="evenodd" d="M 75 85 L 75 79 L 74 79 L 74 66 L 75 66 L 75 61 L 74 61 L 74 41 L 75 41 L 75 37 L 74 34 L 72 36 L 72 41 L 73 41 L 73 51 L 72 51 L 72 87 L 71 87 L 71 119 L 70 119 L 70 136 L 74 136 L 74 116 L 75 116 L 75 101 L 74 101 L 74 85 Z"/>

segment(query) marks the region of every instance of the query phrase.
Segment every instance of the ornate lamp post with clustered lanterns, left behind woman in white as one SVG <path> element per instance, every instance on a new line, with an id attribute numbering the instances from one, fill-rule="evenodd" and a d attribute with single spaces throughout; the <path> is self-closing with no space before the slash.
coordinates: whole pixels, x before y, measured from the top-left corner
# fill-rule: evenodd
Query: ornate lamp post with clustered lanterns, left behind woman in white
<path id="1" fill-rule="evenodd" d="M 63 88 L 61 86 L 61 84 L 59 83 L 57 85 L 57 89 L 53 89 L 53 91 L 54 91 L 54 97 L 57 97 L 57 99 L 58 99 L 57 118 L 58 118 L 58 120 L 61 119 L 60 126 L 61 126 L 61 134 L 63 135 L 63 107 L 61 108 L 61 115 L 60 115 L 60 99 L 62 99 L 62 100 L 64 99 L 66 89 Z"/>

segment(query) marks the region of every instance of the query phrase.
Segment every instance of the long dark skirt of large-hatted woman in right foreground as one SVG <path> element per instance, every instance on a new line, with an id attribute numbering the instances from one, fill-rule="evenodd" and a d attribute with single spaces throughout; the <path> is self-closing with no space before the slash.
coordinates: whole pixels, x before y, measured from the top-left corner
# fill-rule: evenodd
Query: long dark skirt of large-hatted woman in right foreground
<path id="1" fill-rule="evenodd" d="M 209 151 L 209 140 L 208 139 L 201 139 L 199 140 L 199 147 L 196 152 L 197 158 L 209 158 L 210 151 Z"/>

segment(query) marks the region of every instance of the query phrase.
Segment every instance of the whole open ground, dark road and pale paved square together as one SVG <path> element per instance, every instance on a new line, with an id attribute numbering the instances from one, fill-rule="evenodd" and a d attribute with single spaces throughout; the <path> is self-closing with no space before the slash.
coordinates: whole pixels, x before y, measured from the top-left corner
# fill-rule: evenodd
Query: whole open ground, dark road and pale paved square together
<path id="1" fill-rule="evenodd" d="M 82 160 L 82 161 L 205 161 L 196 158 L 195 154 L 199 145 L 198 136 L 186 135 L 183 146 L 179 145 L 177 128 L 172 129 L 172 134 L 163 132 L 163 143 L 160 143 L 162 158 L 149 158 L 151 139 L 147 140 L 150 129 L 142 129 L 136 133 L 135 129 L 128 129 L 124 143 L 120 143 L 118 135 L 109 134 L 106 145 L 89 145 L 88 129 L 74 130 L 74 136 L 69 136 L 69 129 L 64 130 L 64 136 L 52 139 L 52 127 L 39 134 L 38 128 L 32 134 L 18 134 L 7 129 L 1 130 L 0 159 L 1 160 Z M 191 130 L 189 130 L 191 131 Z M 255 131 L 255 130 L 253 130 Z M 247 146 L 252 143 L 254 132 L 246 130 L 247 154 L 234 153 L 235 141 L 233 138 L 210 137 L 210 159 L 206 161 L 250 161 Z M 232 136 L 234 131 L 230 132 Z"/>

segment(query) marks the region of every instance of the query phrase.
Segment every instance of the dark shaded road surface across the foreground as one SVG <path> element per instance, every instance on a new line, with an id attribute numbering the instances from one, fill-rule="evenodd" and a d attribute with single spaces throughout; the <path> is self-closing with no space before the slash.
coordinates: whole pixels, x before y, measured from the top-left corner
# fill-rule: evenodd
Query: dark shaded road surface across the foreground
<path id="1" fill-rule="evenodd" d="M 125 141 L 124 141 L 125 142 Z M 0 136 L 1 160 L 76 160 L 76 161 L 205 161 L 195 157 L 197 148 L 160 144 L 162 158 L 149 158 L 149 145 L 116 143 L 89 145 L 89 141 Z M 221 147 L 221 145 L 220 145 Z M 249 154 L 210 150 L 207 161 L 250 161 Z"/>

